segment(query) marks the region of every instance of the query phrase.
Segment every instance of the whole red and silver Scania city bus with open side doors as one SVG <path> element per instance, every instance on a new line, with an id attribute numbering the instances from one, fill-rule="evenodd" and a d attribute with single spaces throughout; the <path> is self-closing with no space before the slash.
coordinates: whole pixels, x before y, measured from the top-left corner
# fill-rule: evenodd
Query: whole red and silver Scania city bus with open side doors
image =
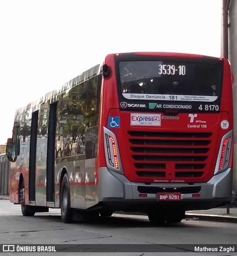
<path id="1" fill-rule="evenodd" d="M 223 58 L 107 55 L 16 111 L 10 201 L 65 223 L 139 211 L 153 224 L 230 202 L 232 80 Z"/>

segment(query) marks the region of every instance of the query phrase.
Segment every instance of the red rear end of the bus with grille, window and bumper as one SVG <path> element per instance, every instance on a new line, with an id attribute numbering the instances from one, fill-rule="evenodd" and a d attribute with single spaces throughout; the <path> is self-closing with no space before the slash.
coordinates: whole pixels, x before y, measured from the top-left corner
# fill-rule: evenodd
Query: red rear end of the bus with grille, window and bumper
<path id="1" fill-rule="evenodd" d="M 228 60 L 111 54 L 103 70 L 100 204 L 152 218 L 229 202 L 233 102 Z"/>

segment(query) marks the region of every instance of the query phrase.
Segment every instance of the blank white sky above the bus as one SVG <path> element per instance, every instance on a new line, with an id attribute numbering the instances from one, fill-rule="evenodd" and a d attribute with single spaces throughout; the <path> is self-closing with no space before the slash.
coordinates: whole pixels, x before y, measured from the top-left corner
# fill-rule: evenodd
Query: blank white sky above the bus
<path id="1" fill-rule="evenodd" d="M 20 108 L 118 52 L 220 57 L 221 0 L 1 0 L 0 144 Z"/>

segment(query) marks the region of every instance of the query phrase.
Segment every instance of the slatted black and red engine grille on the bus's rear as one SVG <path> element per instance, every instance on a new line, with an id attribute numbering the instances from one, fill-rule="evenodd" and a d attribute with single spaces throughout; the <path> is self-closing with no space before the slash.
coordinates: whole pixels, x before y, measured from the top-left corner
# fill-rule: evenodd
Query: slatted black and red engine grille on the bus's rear
<path id="1" fill-rule="evenodd" d="M 197 178 L 204 174 L 212 133 L 128 131 L 128 135 L 137 176 Z"/>

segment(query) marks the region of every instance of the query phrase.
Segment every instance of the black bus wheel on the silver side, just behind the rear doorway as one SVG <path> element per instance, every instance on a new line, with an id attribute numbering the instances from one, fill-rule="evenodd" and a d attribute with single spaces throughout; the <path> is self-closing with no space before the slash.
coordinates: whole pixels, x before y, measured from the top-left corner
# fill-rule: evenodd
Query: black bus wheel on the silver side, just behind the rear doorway
<path id="1" fill-rule="evenodd" d="M 64 175 L 61 184 L 60 191 L 60 208 L 61 208 L 61 218 L 64 223 L 71 223 L 73 220 L 73 210 L 71 209 L 70 203 L 70 188 L 69 188 L 69 178 L 67 174 Z"/>

